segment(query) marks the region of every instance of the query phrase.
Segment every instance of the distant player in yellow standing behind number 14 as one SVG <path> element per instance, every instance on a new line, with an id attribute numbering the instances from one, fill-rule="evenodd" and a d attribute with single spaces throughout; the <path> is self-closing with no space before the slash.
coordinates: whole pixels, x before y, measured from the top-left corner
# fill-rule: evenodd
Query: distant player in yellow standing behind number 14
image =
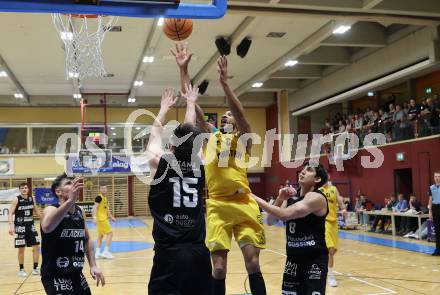
<path id="1" fill-rule="evenodd" d="M 99 187 L 99 195 L 95 198 L 95 205 L 93 206 L 93 220 L 96 223 L 98 230 L 98 241 L 96 243 L 95 257 L 113 259 L 110 253 L 110 244 L 113 238 L 112 228 L 110 226 L 109 217 L 114 222 L 116 219 L 110 213 L 110 208 L 107 202 L 107 186 L 101 185 Z M 101 252 L 102 239 L 106 236 L 104 251 Z"/>

